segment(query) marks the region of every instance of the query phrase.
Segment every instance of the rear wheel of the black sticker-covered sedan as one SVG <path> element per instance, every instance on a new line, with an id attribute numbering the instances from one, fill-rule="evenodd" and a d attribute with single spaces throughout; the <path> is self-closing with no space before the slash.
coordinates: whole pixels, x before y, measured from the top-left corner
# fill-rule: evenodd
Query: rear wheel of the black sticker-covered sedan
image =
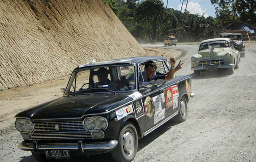
<path id="1" fill-rule="evenodd" d="M 184 122 L 187 119 L 187 100 L 185 96 L 179 101 L 179 113 L 173 118 L 177 122 Z"/>

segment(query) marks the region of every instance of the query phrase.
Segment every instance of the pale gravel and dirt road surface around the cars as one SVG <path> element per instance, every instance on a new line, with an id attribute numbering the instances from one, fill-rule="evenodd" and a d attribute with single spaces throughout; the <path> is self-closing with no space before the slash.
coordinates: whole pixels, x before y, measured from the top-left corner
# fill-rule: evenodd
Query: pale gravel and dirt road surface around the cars
<path id="1" fill-rule="evenodd" d="M 185 62 L 177 75 L 192 76 L 192 92 L 195 96 L 189 101 L 187 120 L 183 123 L 170 120 L 140 139 L 133 161 L 256 161 L 256 42 L 246 42 L 245 57 L 241 58 L 234 74 L 227 75 L 222 70 L 202 73 L 200 78 L 195 78 L 190 70 L 190 57 L 197 53 L 196 44 L 143 47 L 149 47 L 153 51 L 152 47 L 158 48 L 155 50 L 157 54 L 168 58 L 175 56 L 178 61 Z M 60 97 L 60 88 L 65 88 L 67 79 L 68 77 L 60 78 L 0 92 L 1 162 L 35 161 L 30 152 L 17 148 L 22 138 L 14 128 L 14 115 L 36 104 Z M 101 162 L 103 158 L 92 156 L 83 159 Z M 104 158 L 105 162 L 106 159 Z"/>

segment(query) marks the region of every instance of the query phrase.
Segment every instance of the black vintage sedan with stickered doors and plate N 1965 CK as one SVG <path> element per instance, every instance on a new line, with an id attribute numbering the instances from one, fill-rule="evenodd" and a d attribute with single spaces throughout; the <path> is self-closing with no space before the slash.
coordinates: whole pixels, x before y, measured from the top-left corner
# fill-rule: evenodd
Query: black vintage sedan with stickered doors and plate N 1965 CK
<path id="1" fill-rule="evenodd" d="M 139 138 L 171 118 L 186 120 L 191 94 L 191 76 L 145 80 L 147 60 L 156 63 L 158 74 L 170 70 L 166 58 L 156 56 L 75 68 L 61 98 L 15 116 L 24 139 L 18 147 L 39 161 L 105 152 L 117 162 L 132 161 Z"/>

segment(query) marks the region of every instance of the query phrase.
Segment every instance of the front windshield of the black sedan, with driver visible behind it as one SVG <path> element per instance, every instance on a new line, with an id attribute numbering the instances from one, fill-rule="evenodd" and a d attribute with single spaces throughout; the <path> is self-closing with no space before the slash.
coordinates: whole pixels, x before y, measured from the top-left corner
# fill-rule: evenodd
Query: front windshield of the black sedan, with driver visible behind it
<path id="1" fill-rule="evenodd" d="M 73 72 L 64 95 L 116 93 L 135 89 L 134 66 L 110 66 Z"/>

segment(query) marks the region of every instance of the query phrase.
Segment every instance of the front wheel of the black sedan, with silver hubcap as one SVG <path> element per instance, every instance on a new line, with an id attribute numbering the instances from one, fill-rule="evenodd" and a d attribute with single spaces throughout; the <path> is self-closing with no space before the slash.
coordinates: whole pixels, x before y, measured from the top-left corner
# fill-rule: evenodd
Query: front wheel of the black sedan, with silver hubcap
<path id="1" fill-rule="evenodd" d="M 117 147 L 111 151 L 116 162 L 131 162 L 135 158 L 138 149 L 138 134 L 131 122 L 122 128 Z"/>

